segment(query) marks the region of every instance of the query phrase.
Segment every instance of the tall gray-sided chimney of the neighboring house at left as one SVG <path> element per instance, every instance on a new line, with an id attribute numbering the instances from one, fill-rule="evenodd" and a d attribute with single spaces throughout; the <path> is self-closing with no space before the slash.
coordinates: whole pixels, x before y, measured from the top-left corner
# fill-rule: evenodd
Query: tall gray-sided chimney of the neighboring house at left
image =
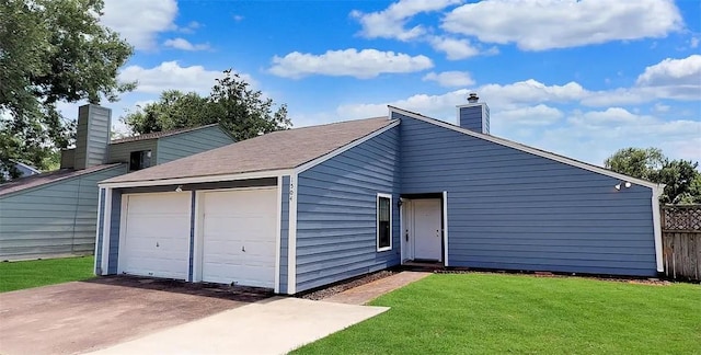
<path id="1" fill-rule="evenodd" d="M 112 110 L 88 104 L 78 108 L 78 131 L 73 169 L 87 169 L 107 162 Z"/>

